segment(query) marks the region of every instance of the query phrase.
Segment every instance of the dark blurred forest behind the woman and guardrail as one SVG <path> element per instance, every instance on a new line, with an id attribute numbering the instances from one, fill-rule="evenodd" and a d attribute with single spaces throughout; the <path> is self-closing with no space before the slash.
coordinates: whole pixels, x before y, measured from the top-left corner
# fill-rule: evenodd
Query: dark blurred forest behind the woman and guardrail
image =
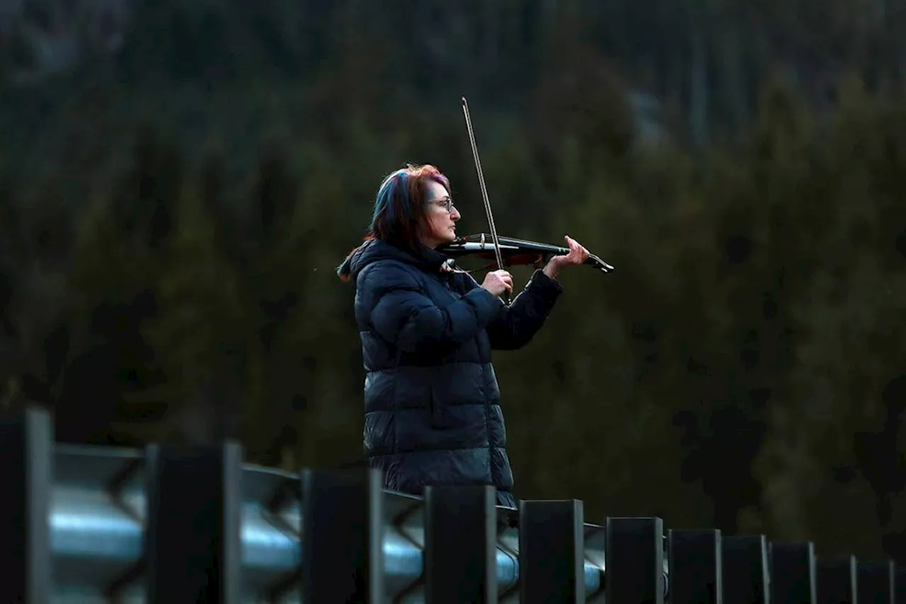
<path id="1" fill-rule="evenodd" d="M 5 0 L 0 34 L 4 409 L 361 463 L 333 269 L 406 161 L 487 230 L 465 95 L 499 232 L 617 267 L 495 357 L 516 494 L 906 562 L 904 5 Z"/>

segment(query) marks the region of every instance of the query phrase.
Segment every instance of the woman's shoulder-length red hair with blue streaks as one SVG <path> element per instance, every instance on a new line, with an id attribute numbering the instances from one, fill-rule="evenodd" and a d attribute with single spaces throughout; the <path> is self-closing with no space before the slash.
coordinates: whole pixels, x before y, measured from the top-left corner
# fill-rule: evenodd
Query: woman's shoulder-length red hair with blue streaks
<path id="1" fill-rule="evenodd" d="M 421 248 L 419 227 L 426 216 L 425 196 L 431 182 L 438 182 L 451 195 L 448 178 L 429 163 L 408 163 L 400 170 L 390 172 L 378 187 L 374 213 L 364 240 L 381 239 L 418 254 Z M 348 275 L 341 274 L 340 277 L 348 278 Z"/>

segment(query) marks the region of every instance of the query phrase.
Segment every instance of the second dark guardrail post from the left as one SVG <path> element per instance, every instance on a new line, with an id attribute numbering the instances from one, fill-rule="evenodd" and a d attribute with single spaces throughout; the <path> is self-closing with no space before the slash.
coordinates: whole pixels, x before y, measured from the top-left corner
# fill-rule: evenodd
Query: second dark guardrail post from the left
<path id="1" fill-rule="evenodd" d="M 146 448 L 148 601 L 238 604 L 242 448 Z"/>

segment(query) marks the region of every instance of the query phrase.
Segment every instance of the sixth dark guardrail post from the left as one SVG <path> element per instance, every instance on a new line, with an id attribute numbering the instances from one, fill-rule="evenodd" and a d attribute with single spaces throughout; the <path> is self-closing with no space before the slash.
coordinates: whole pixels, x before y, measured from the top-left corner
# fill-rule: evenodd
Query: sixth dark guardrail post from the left
<path id="1" fill-rule="evenodd" d="M 608 517 L 605 531 L 607 604 L 663 604 L 663 520 Z"/>

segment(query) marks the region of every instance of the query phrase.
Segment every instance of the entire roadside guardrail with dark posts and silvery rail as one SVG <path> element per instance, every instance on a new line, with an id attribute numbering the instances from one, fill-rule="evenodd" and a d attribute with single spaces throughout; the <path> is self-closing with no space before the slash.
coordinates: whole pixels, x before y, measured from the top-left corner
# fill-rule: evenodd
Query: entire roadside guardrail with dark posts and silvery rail
<path id="1" fill-rule="evenodd" d="M 51 425 L 0 422 L 0 603 L 906 601 L 891 561 L 808 542 L 665 538 L 660 518 L 589 524 L 578 501 L 497 508 L 491 487 L 410 497 L 376 472 L 243 464 L 236 443 L 54 445 Z"/>

